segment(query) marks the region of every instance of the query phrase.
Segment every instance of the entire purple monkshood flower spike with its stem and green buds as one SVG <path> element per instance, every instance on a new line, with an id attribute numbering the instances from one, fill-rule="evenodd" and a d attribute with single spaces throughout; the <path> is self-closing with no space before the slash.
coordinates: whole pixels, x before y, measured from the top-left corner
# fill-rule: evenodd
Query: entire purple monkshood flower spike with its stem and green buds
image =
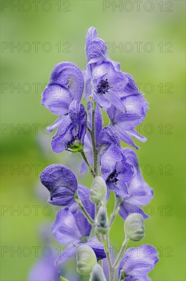
<path id="1" fill-rule="evenodd" d="M 58 115 L 47 128 L 49 132 L 56 129 L 52 150 L 69 151 L 71 163 L 72 152 L 78 152 L 83 161 L 78 163 L 76 158 L 74 165 L 79 167 L 80 175 L 89 171 L 92 180 L 88 187 L 78 184 L 73 171 L 60 164 L 50 165 L 40 174 L 50 194 L 48 202 L 59 206 L 51 232 L 65 248 L 46 263 L 42 261 L 30 276 L 40 278 L 41 270 L 48 267 L 48 278 L 68 281 L 64 269 L 72 271 L 69 259 L 76 257 L 77 273 L 89 275 L 86 280 L 115 281 L 116 274 L 119 281 L 151 280 L 148 274 L 158 261 L 158 253 L 153 246 L 139 243 L 145 237 L 145 219 L 149 218 L 142 207 L 153 198 L 153 189 L 142 176 L 134 150 L 139 147 L 133 139 L 146 142 L 136 127 L 144 121 L 148 103 L 134 78 L 109 57 L 107 44 L 98 38 L 94 27 L 88 30 L 85 52 L 87 65 L 83 72 L 71 62 L 54 67 L 42 105 Z M 105 114 L 110 122 L 107 126 L 103 122 Z M 122 147 L 121 140 L 132 148 Z M 109 216 L 111 193 L 115 204 Z M 117 214 L 123 223 L 115 231 L 115 239 L 121 231 L 123 243 L 114 257 L 109 235 Z M 126 248 L 129 241 L 138 246 Z"/>

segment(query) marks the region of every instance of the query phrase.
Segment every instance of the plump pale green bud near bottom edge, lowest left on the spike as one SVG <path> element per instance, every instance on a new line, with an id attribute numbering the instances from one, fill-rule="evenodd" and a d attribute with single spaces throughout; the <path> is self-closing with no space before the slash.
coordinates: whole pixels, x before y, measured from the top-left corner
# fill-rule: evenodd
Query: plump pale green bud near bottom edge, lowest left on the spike
<path id="1" fill-rule="evenodd" d="M 77 272 L 82 275 L 90 274 L 97 259 L 94 251 L 88 245 L 81 245 L 76 250 Z"/>

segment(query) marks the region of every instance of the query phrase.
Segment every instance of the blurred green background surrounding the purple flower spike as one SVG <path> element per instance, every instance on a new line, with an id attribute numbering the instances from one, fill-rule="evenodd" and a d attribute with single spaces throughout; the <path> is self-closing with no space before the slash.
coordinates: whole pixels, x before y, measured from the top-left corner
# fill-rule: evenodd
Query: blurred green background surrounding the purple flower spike
<path id="1" fill-rule="evenodd" d="M 118 4 L 122 6 L 114 7 Z M 140 127 L 148 141 L 136 141 L 141 147 L 137 153 L 143 176 L 155 194 L 146 209 L 151 218 L 145 221 L 142 243 L 158 249 L 160 262 L 149 276 L 185 280 L 185 2 L 41 1 L 37 9 L 32 1 L 1 1 L 1 5 L 1 280 L 28 278 L 38 259 L 33 247 L 43 245 L 38 226 L 55 219 L 55 208 L 49 216 L 50 209 L 43 208 L 48 206 L 39 184 L 43 167 L 61 162 L 78 176 L 79 155 L 51 151 L 52 133 L 46 134 L 45 128 L 56 116 L 40 100 L 57 63 L 72 61 L 85 67 L 84 45 L 90 26 L 108 42 L 110 57 L 121 62 L 122 71 L 141 83 L 149 102 L 150 110 Z M 115 48 L 118 45 L 122 50 Z M 88 175 L 78 176 L 79 183 L 89 187 L 91 180 Z M 34 206 L 41 206 L 38 214 Z M 13 212 L 16 208 L 18 212 Z M 123 222 L 117 217 L 111 230 L 116 249 L 123 237 Z"/>

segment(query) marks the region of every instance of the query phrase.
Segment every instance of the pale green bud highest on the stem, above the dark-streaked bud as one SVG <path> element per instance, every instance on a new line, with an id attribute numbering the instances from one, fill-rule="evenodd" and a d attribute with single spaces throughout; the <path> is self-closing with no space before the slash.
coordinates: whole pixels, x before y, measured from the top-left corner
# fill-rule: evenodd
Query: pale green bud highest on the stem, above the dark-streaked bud
<path id="1" fill-rule="evenodd" d="M 104 202 L 107 195 L 107 185 L 102 177 L 95 177 L 90 189 L 90 201 L 93 203 Z"/>

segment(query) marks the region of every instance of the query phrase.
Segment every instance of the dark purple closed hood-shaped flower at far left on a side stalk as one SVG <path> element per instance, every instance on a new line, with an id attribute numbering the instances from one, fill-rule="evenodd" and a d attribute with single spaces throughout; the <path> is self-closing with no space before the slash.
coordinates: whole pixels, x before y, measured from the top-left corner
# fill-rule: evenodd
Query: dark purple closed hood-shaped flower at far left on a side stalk
<path id="1" fill-rule="evenodd" d="M 40 174 L 42 184 L 50 192 L 48 202 L 57 206 L 69 205 L 77 190 L 77 179 L 66 166 L 53 164 Z"/>

